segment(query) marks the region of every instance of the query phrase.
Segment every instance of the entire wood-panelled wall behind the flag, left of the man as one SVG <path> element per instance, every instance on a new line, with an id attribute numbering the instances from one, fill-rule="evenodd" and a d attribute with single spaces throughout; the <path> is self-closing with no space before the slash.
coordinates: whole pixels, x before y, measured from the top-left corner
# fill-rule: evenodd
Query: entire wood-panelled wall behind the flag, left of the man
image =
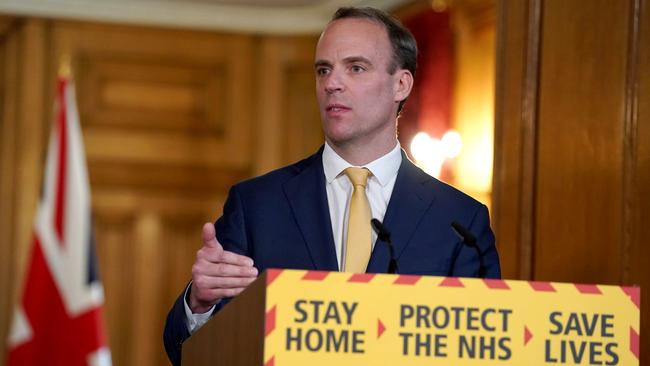
<path id="1" fill-rule="evenodd" d="M 29 251 L 60 60 L 91 181 L 116 365 L 167 364 L 166 313 L 229 187 L 322 143 L 316 36 L 0 18 L 0 365 Z"/>

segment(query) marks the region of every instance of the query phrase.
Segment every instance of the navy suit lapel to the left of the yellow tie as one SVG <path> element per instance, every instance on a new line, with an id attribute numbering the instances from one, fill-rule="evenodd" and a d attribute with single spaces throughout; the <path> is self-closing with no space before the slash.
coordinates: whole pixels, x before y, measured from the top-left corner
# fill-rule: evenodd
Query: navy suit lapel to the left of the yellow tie
<path id="1" fill-rule="evenodd" d="M 338 271 L 325 191 L 322 151 L 321 148 L 305 161 L 302 170 L 288 180 L 283 188 L 315 269 Z"/>

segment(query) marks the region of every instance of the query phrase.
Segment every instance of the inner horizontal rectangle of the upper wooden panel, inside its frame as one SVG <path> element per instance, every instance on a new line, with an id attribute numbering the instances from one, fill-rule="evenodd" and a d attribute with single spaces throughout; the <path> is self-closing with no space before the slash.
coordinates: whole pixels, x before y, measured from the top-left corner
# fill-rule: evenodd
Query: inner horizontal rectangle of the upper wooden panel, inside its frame
<path id="1" fill-rule="evenodd" d="M 217 135 L 226 129 L 226 65 L 220 60 L 196 65 L 154 56 L 108 58 L 84 52 L 78 61 L 85 86 L 95 87 L 86 88 L 89 95 L 81 106 L 83 113 L 95 112 L 89 123 L 93 127 L 183 129 Z M 202 103 L 205 100 L 212 103 Z"/>

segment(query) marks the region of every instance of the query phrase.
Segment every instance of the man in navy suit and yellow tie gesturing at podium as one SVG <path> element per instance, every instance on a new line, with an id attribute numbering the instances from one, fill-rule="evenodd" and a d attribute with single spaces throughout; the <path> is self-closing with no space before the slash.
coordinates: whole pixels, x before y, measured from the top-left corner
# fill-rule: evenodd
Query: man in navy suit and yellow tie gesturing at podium
<path id="1" fill-rule="evenodd" d="M 398 273 L 477 276 L 479 256 L 451 227 L 476 237 L 484 273 L 500 277 L 487 208 L 411 163 L 396 137 L 415 75 L 417 47 L 397 20 L 370 8 L 339 9 L 315 58 L 325 144 L 314 155 L 233 186 L 223 216 L 203 227 L 192 282 L 165 325 L 182 342 L 267 268 L 386 272 L 392 234 Z"/>

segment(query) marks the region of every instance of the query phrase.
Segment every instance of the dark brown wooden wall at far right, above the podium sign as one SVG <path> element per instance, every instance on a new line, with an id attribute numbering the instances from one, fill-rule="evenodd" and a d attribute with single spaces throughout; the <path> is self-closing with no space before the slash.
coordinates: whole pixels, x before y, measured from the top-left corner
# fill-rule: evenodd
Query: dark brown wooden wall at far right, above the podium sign
<path id="1" fill-rule="evenodd" d="M 506 278 L 642 286 L 650 2 L 501 1 L 494 225 Z M 641 349 L 650 349 L 642 337 Z M 650 352 L 641 352 L 641 364 Z"/>

